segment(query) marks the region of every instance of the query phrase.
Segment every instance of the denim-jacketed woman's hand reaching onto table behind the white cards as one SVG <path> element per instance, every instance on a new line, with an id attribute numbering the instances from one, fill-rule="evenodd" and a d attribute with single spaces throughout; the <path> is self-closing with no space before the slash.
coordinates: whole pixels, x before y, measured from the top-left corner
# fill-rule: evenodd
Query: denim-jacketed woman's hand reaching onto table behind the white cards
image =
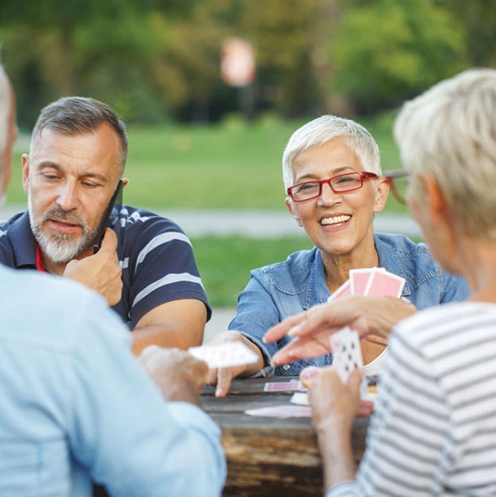
<path id="1" fill-rule="evenodd" d="M 259 356 L 259 361 L 254 364 L 245 364 L 233 367 L 220 367 L 218 369 L 209 369 L 208 374 L 208 384 L 217 385 L 216 387 L 216 397 L 225 397 L 227 392 L 229 392 L 229 387 L 231 386 L 231 381 L 236 378 L 236 376 L 252 376 L 264 367 L 262 353 L 260 349 L 254 343 L 249 341 L 245 336 L 238 332 L 221 332 L 215 334 L 208 345 L 214 345 L 215 343 L 229 343 L 229 342 L 242 342 L 251 350 L 256 352 Z"/>

